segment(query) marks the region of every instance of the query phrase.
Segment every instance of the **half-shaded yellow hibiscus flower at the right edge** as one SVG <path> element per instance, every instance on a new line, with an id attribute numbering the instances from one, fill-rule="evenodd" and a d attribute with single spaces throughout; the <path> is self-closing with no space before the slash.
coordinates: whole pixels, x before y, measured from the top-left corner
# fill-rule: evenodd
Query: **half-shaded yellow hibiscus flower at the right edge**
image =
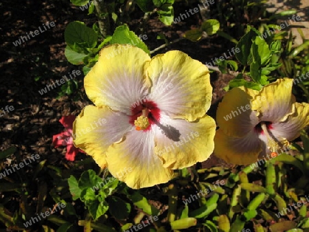
<path id="1" fill-rule="evenodd" d="M 286 151 L 309 124 L 309 104 L 295 102 L 293 79 L 283 78 L 261 91 L 244 87 L 227 92 L 218 106 L 214 154 L 248 165 Z"/>

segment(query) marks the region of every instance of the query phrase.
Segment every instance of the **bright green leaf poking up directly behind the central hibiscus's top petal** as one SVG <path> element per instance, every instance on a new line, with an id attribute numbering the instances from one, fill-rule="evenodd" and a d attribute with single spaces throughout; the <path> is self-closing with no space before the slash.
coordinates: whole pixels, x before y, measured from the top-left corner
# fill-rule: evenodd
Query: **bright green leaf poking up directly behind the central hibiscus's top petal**
<path id="1" fill-rule="evenodd" d="M 146 44 L 141 41 L 141 39 L 132 31 L 129 30 L 128 26 L 122 25 L 115 29 L 113 37 L 110 40 L 111 44 L 119 43 L 119 44 L 130 44 L 140 49 L 143 49 L 146 53 L 150 53 Z"/>

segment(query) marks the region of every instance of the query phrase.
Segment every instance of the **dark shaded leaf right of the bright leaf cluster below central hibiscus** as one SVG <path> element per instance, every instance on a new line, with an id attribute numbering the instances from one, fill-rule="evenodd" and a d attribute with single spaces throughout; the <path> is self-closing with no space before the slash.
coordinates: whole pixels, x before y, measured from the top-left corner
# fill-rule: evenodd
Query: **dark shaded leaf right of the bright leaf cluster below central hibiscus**
<path id="1" fill-rule="evenodd" d="M 131 205 L 128 202 L 125 202 L 116 196 L 112 196 L 108 200 L 108 205 L 109 211 L 118 220 L 124 220 L 128 218 L 128 215 L 131 211 Z"/>

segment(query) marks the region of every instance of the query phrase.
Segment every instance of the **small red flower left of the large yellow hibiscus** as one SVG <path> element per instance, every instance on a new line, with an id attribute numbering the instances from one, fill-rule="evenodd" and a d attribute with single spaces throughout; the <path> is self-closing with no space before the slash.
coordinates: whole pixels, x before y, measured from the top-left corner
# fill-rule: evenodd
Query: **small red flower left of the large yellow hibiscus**
<path id="1" fill-rule="evenodd" d="M 76 116 L 69 115 L 69 116 L 63 116 L 61 119 L 59 119 L 60 124 L 62 124 L 65 127 L 65 131 L 60 132 L 57 135 L 53 135 L 53 144 L 55 148 L 58 148 L 59 146 L 67 146 L 67 153 L 65 154 L 65 159 L 68 161 L 74 161 L 76 154 L 78 152 L 84 153 L 83 150 L 80 150 L 79 148 L 76 148 L 73 145 L 73 121 L 75 120 Z"/>

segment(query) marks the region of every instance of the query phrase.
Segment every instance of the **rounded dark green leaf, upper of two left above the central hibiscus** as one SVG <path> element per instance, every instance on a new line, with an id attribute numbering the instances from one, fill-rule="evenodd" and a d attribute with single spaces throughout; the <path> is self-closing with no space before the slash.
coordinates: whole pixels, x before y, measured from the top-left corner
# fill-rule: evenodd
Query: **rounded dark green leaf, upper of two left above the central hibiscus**
<path id="1" fill-rule="evenodd" d="M 65 28 L 65 42 L 68 45 L 78 44 L 80 47 L 95 47 L 98 34 L 80 21 L 74 21 Z"/>

